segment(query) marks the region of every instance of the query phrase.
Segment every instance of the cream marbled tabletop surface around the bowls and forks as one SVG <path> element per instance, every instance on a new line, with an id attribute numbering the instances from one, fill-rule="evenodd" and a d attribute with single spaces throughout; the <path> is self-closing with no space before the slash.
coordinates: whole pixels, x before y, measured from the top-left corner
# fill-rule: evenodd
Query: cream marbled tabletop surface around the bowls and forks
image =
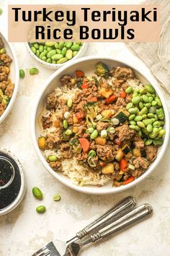
<path id="1" fill-rule="evenodd" d="M 45 3 L 46 1 L 0 1 L 4 14 L 0 17 L 0 29 L 6 34 L 7 4 Z M 57 1 L 48 1 L 51 4 Z M 60 1 L 58 1 L 59 3 Z M 72 4 L 71 1 L 64 1 Z M 136 4 L 140 1 L 93 1 L 93 4 Z M 79 1 L 74 1 L 78 4 Z M 91 1 L 86 1 L 90 4 Z M 2 27 L 3 24 L 3 27 Z M 35 98 L 42 90 L 45 80 L 53 70 L 45 69 L 27 54 L 22 43 L 14 48 L 19 60 L 19 68 L 26 71 L 26 77 L 19 82 L 19 93 L 14 107 L 5 121 L 0 124 L 0 145 L 12 150 L 24 166 L 27 176 L 27 195 L 12 213 L 0 217 L 0 255 L 30 256 L 42 245 L 55 239 L 66 240 L 76 231 L 86 226 L 116 202 L 129 195 L 138 200 L 138 204 L 148 202 L 153 205 L 153 216 L 131 229 L 118 234 L 106 242 L 89 247 L 82 256 L 169 256 L 170 255 L 170 172 L 167 150 L 161 164 L 143 183 L 127 192 L 117 195 L 83 195 L 64 187 L 53 178 L 40 163 L 32 145 L 30 121 Z M 86 55 L 116 56 L 135 63 L 140 70 L 148 72 L 146 66 L 128 50 L 123 43 L 89 43 Z M 30 67 L 40 69 L 40 74 L 30 76 Z M 169 98 L 165 101 L 169 105 Z M 38 202 L 32 197 L 32 187 L 37 186 L 44 193 L 44 200 Z M 53 202 L 55 193 L 61 194 L 61 202 Z M 37 205 L 46 205 L 47 211 L 38 215 Z"/>

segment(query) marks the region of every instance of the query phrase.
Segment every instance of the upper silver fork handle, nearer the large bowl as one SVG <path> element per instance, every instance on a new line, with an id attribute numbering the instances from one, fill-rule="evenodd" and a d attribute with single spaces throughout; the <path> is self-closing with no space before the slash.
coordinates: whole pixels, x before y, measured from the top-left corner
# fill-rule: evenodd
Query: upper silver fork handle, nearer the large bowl
<path id="1" fill-rule="evenodd" d="M 67 243 L 75 242 L 77 239 L 82 239 L 87 234 L 91 233 L 94 230 L 101 229 L 105 223 L 110 223 L 121 216 L 125 215 L 125 213 L 128 213 L 130 210 L 132 210 L 136 205 L 135 198 L 133 197 L 126 197 L 124 200 L 122 200 L 119 204 L 117 204 L 115 207 L 111 208 L 107 211 L 107 213 L 104 213 L 102 216 L 97 218 L 97 220 L 90 223 L 88 226 L 86 226 L 84 229 L 79 231 L 75 237 L 67 241 Z"/>

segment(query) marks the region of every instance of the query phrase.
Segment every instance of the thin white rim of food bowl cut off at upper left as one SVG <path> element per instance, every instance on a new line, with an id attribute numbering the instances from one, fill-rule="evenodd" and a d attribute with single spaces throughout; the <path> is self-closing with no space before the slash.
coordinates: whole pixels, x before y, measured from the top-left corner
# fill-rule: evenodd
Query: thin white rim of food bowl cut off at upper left
<path id="1" fill-rule="evenodd" d="M 17 61 L 17 55 L 15 54 L 12 43 L 8 43 L 8 41 L 6 40 L 6 37 L 1 32 L 0 32 L 0 36 L 2 37 L 2 39 L 5 40 L 4 43 L 7 44 L 9 46 L 10 50 L 12 51 L 12 56 L 10 56 L 10 58 L 12 58 L 12 61 L 14 61 L 14 67 L 15 67 L 15 81 L 12 81 L 12 82 L 14 82 L 14 91 L 13 91 L 12 98 L 9 101 L 9 104 L 8 104 L 6 110 L 0 116 L 0 123 L 1 123 L 2 121 L 4 121 L 6 116 L 8 116 L 9 112 L 12 109 L 12 106 L 14 105 L 14 101 L 17 97 L 17 93 L 18 93 L 18 89 L 19 89 L 19 66 L 18 66 L 18 61 Z"/>

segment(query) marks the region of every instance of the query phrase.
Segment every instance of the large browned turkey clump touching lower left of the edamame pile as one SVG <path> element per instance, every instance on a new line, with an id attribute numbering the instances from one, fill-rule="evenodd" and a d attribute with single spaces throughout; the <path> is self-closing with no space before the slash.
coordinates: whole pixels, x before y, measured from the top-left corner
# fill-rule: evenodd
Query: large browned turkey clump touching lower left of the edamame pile
<path id="1" fill-rule="evenodd" d="M 116 134 L 120 141 L 131 140 L 135 135 L 135 131 L 128 127 L 128 124 L 123 124 L 121 127 L 116 127 Z"/>

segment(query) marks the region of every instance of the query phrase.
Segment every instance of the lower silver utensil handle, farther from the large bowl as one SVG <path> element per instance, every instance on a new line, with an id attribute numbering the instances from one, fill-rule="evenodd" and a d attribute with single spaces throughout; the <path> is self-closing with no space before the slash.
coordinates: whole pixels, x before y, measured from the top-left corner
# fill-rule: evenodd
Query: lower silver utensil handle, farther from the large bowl
<path id="1" fill-rule="evenodd" d="M 125 229 L 128 226 L 131 226 L 133 223 L 138 223 L 138 221 L 142 221 L 144 218 L 151 216 L 152 211 L 153 209 L 151 205 L 140 205 L 138 208 L 135 208 L 130 213 L 127 213 L 125 216 L 118 219 L 114 223 L 106 223 L 104 228 L 100 229 L 94 234 L 91 234 L 91 236 L 79 244 L 81 247 L 84 247 L 91 242 L 99 242 L 99 240 L 115 234 L 115 232 L 120 231 L 121 229 Z"/>

